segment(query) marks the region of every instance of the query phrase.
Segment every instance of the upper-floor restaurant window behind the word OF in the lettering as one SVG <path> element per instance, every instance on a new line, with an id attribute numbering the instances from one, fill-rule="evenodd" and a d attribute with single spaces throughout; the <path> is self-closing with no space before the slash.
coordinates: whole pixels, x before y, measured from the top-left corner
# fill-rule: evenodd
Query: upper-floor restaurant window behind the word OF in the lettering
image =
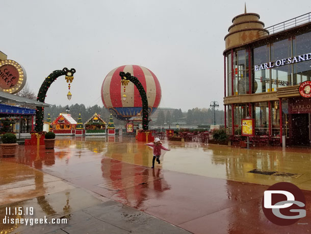
<path id="1" fill-rule="evenodd" d="M 292 39 L 277 41 L 270 44 L 271 61 L 276 62 L 292 57 Z M 276 88 L 292 85 L 292 64 L 274 66 L 271 68 L 271 87 L 272 91 Z"/>

